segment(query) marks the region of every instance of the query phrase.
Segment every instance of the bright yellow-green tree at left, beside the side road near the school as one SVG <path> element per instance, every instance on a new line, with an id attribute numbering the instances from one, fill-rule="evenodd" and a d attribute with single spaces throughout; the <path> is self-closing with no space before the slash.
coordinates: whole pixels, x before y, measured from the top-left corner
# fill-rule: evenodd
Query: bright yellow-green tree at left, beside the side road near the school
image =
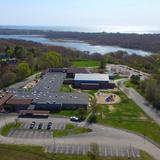
<path id="1" fill-rule="evenodd" d="M 29 68 L 28 63 L 26 62 L 20 63 L 17 67 L 17 70 L 19 79 L 24 79 L 31 74 L 31 69 Z"/>

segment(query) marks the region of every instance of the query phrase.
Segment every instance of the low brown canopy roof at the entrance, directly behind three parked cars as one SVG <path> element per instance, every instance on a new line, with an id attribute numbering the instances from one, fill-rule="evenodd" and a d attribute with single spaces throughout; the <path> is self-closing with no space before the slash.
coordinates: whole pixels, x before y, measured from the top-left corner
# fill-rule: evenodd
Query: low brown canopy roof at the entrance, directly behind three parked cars
<path id="1" fill-rule="evenodd" d="M 40 111 L 40 110 L 21 110 L 19 112 L 20 115 L 32 114 L 35 116 L 38 115 L 49 115 L 49 111 Z"/>

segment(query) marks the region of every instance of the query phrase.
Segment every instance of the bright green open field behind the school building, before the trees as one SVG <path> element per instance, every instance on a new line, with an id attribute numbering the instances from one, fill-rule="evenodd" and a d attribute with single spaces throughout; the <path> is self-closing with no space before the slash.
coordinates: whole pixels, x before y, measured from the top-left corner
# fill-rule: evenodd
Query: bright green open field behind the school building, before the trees
<path id="1" fill-rule="evenodd" d="M 72 61 L 72 66 L 73 67 L 99 67 L 100 62 L 99 61 L 94 61 L 94 60 L 75 60 Z"/>

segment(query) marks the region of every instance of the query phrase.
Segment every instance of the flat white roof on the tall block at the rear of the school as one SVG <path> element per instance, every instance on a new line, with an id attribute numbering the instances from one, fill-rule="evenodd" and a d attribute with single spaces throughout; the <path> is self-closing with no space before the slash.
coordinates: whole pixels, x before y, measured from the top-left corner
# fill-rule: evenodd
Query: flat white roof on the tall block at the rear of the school
<path id="1" fill-rule="evenodd" d="M 90 74 L 75 74 L 75 81 L 109 81 L 108 74 L 90 73 Z"/>

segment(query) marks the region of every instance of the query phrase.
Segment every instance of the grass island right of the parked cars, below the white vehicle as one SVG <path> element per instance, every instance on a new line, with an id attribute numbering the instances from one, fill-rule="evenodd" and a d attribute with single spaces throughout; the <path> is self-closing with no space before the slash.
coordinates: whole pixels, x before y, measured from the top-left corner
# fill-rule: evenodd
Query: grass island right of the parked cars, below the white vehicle
<path id="1" fill-rule="evenodd" d="M 67 124 L 64 130 L 55 130 L 53 137 L 64 137 L 69 135 L 76 135 L 81 133 L 91 132 L 89 128 L 77 127 L 73 124 Z"/>

